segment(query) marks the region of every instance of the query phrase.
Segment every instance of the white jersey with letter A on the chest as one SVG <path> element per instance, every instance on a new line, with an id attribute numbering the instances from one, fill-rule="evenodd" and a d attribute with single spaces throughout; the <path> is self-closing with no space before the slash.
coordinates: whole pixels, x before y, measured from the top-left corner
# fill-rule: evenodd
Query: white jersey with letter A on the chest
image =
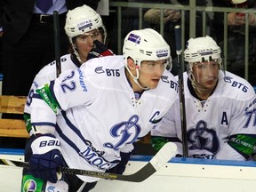
<path id="1" fill-rule="evenodd" d="M 252 85 L 243 78 L 221 71 L 219 82 L 208 100 L 197 100 L 188 90 L 188 75 L 184 73 L 184 94 L 188 137 L 188 156 L 230 160 L 245 160 L 228 145 L 228 141 L 243 142 L 243 136 L 256 138 L 256 100 Z M 180 125 L 180 100 L 169 109 L 163 120 L 151 132 L 177 141 L 182 154 Z M 242 139 L 234 137 L 241 134 Z M 255 141 L 254 141 L 255 142 Z M 239 143 L 240 144 L 240 143 Z M 244 142 L 244 148 L 253 148 L 250 142 Z M 245 152 L 245 151 L 244 151 Z M 245 152 L 246 153 L 246 152 Z"/>

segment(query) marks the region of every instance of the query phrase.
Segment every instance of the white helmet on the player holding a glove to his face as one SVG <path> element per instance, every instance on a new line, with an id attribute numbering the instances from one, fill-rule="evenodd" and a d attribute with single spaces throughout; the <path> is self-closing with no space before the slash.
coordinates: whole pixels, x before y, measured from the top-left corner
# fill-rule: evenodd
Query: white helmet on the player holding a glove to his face
<path id="1" fill-rule="evenodd" d="M 102 28 L 102 29 L 101 29 Z M 93 29 L 99 29 L 104 36 L 104 44 L 107 38 L 107 30 L 103 25 L 100 14 L 90 6 L 83 5 L 69 10 L 66 17 L 65 31 L 72 43 L 72 38 L 83 35 Z"/>

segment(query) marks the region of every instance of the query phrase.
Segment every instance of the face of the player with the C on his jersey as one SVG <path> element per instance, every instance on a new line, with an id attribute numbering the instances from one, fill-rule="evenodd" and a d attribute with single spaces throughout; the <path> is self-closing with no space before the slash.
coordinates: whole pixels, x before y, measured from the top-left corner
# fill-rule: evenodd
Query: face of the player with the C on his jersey
<path id="1" fill-rule="evenodd" d="M 155 89 L 166 68 L 166 60 L 144 60 L 140 64 L 140 85 Z"/>

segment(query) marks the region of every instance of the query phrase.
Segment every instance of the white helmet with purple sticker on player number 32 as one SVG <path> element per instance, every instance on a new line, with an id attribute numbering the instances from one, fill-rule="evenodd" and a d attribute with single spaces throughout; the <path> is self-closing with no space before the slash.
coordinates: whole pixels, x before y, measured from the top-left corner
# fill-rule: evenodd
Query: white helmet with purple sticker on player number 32
<path id="1" fill-rule="evenodd" d="M 128 58 L 139 67 L 143 60 L 167 60 L 172 65 L 169 44 L 152 28 L 132 30 L 124 38 L 123 55 L 126 67 Z"/>

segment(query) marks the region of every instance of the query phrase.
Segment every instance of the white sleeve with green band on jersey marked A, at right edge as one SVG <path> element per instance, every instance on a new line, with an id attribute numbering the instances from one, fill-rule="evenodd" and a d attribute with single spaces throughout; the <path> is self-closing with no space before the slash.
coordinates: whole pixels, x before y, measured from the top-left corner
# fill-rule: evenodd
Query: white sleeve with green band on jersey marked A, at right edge
<path id="1" fill-rule="evenodd" d="M 256 97 L 253 88 L 249 86 L 248 92 L 244 93 L 243 97 L 239 94 L 235 99 L 229 101 L 231 114 L 228 142 L 220 148 L 215 158 L 249 159 L 254 153 L 256 144 Z"/>

